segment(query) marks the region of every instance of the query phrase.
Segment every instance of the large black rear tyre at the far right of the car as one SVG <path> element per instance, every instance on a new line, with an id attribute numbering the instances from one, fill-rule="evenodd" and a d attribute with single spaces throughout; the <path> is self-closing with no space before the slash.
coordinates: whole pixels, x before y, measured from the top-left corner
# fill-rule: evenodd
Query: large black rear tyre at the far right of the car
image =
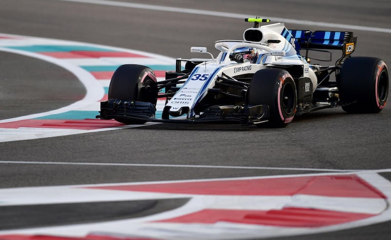
<path id="1" fill-rule="evenodd" d="M 350 57 L 338 77 L 340 101 L 349 113 L 377 113 L 385 106 L 389 73 L 383 60 L 372 57 Z"/>

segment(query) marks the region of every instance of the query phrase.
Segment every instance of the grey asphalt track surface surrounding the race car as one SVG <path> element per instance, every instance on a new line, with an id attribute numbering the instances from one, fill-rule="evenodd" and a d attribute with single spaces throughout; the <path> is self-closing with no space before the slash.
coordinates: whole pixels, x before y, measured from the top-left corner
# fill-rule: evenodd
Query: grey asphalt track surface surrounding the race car
<path id="1" fill-rule="evenodd" d="M 274 16 L 384 29 L 389 28 L 391 22 L 391 2 L 387 0 L 332 0 L 311 4 L 305 0 L 262 1 L 262 4 L 255 0 L 131 2 L 248 14 L 249 17 Z M 0 0 L 0 6 L 2 33 L 105 44 L 173 58 L 191 57 L 190 46 L 202 45 L 214 49 L 216 40 L 240 39 L 243 29 L 250 27 L 242 20 L 229 16 L 59 0 Z M 286 25 L 290 29 L 343 30 L 297 23 Z M 376 56 L 391 67 L 390 32 L 353 31 L 358 36 L 355 56 Z M 0 59 L 0 119 L 57 109 L 81 99 L 85 93 L 79 81 L 60 67 L 4 52 L 0 52 Z M 34 81 L 34 85 L 31 81 Z M 295 117 L 284 129 L 159 124 L 136 129 L 4 142 L 0 143 L 2 161 L 216 165 L 273 169 L 2 163 L 0 187 L 310 173 L 296 168 L 389 169 L 390 119 L 390 106 L 379 114 L 354 115 L 342 109 L 328 109 Z M 389 174 L 384 176 L 391 180 Z M 289 239 L 390 239 L 390 226 L 391 222 L 385 222 Z"/>

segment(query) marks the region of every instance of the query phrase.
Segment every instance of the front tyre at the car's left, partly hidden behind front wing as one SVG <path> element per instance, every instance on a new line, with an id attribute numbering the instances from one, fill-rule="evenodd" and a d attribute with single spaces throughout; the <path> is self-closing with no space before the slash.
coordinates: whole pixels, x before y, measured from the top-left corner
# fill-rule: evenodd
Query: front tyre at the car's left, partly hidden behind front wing
<path id="1" fill-rule="evenodd" d="M 149 86 L 140 88 L 139 83 L 146 83 L 150 86 L 156 84 L 156 76 L 151 68 L 132 64 L 119 66 L 111 77 L 109 99 L 150 102 L 156 105 L 157 92 L 153 92 L 153 88 Z M 123 118 L 114 119 L 125 124 L 143 124 L 146 122 L 144 120 Z"/>

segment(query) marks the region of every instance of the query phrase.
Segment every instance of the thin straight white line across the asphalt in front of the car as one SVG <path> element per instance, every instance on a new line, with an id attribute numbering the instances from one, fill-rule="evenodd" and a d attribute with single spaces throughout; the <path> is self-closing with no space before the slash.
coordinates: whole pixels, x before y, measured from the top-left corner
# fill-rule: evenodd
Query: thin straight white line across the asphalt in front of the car
<path id="1" fill-rule="evenodd" d="M 121 167 L 169 167 L 169 168 L 216 168 L 216 169 L 253 169 L 253 170 L 286 170 L 286 171 L 318 171 L 318 172 L 390 172 L 390 170 L 341 170 L 321 168 L 278 168 L 278 167 L 246 167 L 221 165 L 182 165 L 182 164 L 143 164 L 143 163 L 104 163 L 104 162 L 40 162 L 40 161 L 0 161 L 0 164 L 39 164 L 39 165 L 88 165 L 88 166 L 121 166 Z"/>

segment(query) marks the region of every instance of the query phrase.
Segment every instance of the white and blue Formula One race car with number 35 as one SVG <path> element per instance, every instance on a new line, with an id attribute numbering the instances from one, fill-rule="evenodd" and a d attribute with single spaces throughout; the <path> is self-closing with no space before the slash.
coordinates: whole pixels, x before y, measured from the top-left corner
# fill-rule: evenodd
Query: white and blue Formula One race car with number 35
<path id="1" fill-rule="evenodd" d="M 101 119 L 125 124 L 150 122 L 266 123 L 284 127 L 295 115 L 342 107 L 352 113 L 376 113 L 386 106 L 389 74 L 383 60 L 350 57 L 352 32 L 288 30 L 283 23 L 260 26 L 266 19 L 245 19 L 254 27 L 244 40 L 217 41 L 217 58 L 206 47 L 191 52 L 210 59 L 177 59 L 176 70 L 156 81 L 152 69 L 121 65 L 101 102 Z M 308 51 L 342 50 L 335 65 L 310 64 Z M 305 56 L 300 54 L 305 52 Z M 157 98 L 165 98 L 157 118 Z"/>

